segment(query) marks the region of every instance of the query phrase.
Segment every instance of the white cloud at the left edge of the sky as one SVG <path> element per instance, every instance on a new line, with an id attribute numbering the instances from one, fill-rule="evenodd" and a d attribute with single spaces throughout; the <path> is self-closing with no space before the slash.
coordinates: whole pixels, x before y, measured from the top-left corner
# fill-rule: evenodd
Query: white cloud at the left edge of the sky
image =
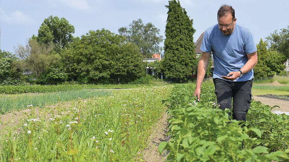
<path id="1" fill-rule="evenodd" d="M 1 21 L 15 24 L 31 24 L 33 19 L 29 15 L 23 14 L 21 11 L 14 11 L 12 14 L 7 14 L 0 8 Z"/>

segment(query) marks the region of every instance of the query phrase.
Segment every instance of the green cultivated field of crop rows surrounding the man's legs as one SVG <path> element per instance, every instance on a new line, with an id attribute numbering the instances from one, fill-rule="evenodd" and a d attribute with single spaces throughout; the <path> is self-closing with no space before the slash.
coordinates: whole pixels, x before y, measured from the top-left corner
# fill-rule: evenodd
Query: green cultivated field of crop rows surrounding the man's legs
<path id="1" fill-rule="evenodd" d="M 0 161 L 148 161 L 145 150 L 155 148 L 169 151 L 166 158 L 173 161 L 288 161 L 287 115 L 272 114 L 270 106 L 253 101 L 241 128 L 213 104 L 212 82 L 202 85 L 200 102 L 192 97 L 194 87 L 130 85 L 124 88 L 131 89 L 113 91 L 1 95 L 6 107 L 1 106 L 5 114 L 0 117 L 17 115 L 13 121 L 1 119 Z M 149 145 L 165 111 L 172 138 Z"/>

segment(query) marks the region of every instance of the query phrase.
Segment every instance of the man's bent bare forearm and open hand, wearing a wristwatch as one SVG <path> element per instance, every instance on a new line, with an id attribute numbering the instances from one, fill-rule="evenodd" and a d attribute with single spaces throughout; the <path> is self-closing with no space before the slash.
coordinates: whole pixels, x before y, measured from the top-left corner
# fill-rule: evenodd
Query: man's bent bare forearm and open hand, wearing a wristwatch
<path id="1" fill-rule="evenodd" d="M 257 56 L 257 51 L 247 54 L 248 61 L 246 64 L 240 69 L 243 74 L 246 72 L 249 72 L 250 70 L 253 69 L 253 67 L 257 64 L 258 61 L 258 56 Z M 222 76 L 223 79 L 225 80 L 235 80 L 236 78 L 240 77 L 241 73 L 239 71 L 237 72 L 229 72 L 227 76 Z"/>

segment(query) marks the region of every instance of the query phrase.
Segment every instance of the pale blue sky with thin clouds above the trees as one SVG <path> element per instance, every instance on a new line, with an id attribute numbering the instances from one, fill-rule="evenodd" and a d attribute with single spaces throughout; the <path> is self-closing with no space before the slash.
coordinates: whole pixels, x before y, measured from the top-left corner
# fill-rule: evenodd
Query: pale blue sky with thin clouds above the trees
<path id="1" fill-rule="evenodd" d="M 217 11 L 222 4 L 235 9 L 237 23 L 249 29 L 255 43 L 274 30 L 289 25 L 288 0 L 180 0 L 196 29 L 194 42 L 205 29 L 217 23 Z M 168 0 L 0 0 L 0 48 L 14 53 L 17 44 L 28 38 L 48 16 L 66 18 L 75 27 L 75 37 L 89 30 L 108 29 L 118 34 L 118 28 L 133 20 L 151 22 L 165 38 Z M 161 44 L 163 46 L 163 43 Z"/>

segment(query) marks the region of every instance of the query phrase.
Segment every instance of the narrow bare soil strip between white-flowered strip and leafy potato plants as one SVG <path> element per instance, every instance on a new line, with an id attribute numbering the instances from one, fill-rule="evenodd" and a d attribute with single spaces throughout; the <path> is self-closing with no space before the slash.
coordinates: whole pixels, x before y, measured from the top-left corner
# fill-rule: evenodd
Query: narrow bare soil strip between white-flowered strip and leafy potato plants
<path id="1" fill-rule="evenodd" d="M 156 126 L 152 128 L 152 134 L 148 137 L 148 146 L 143 151 L 144 161 L 155 162 L 155 161 L 165 161 L 166 156 L 160 155 L 158 146 L 162 141 L 167 139 L 165 134 L 168 132 L 168 114 L 164 113 L 159 119 Z"/>

